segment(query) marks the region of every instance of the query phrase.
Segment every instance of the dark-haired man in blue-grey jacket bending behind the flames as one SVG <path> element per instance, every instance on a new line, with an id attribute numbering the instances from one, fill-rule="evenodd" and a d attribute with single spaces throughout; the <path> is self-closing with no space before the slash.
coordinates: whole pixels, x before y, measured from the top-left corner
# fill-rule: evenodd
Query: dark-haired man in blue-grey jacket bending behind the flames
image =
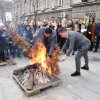
<path id="1" fill-rule="evenodd" d="M 51 28 L 41 28 L 37 33 L 36 38 L 36 42 L 44 43 L 48 56 L 51 56 L 57 43 L 56 31 L 52 30 Z"/>

